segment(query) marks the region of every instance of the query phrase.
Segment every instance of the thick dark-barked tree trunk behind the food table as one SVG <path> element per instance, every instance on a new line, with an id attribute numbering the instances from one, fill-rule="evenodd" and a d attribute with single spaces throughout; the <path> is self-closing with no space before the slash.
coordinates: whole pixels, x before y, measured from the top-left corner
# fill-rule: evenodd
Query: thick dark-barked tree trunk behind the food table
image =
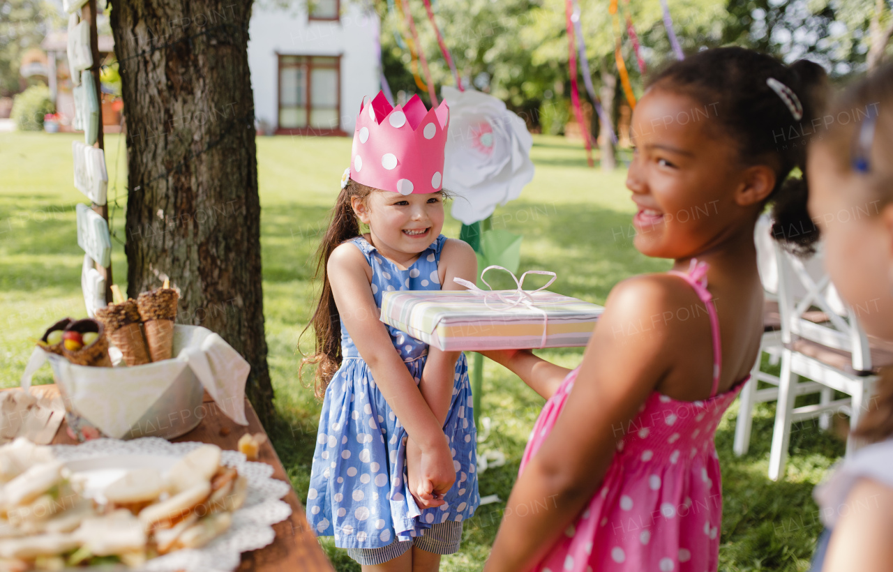
<path id="1" fill-rule="evenodd" d="M 128 294 L 170 277 L 178 323 L 217 332 L 251 364 L 246 392 L 266 421 L 252 3 L 110 4 L 128 128 Z"/>

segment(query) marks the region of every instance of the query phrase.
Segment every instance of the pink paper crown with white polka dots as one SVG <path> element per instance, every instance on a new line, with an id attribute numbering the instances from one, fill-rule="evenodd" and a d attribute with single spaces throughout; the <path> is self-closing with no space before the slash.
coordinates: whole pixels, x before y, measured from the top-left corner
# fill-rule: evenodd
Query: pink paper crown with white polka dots
<path id="1" fill-rule="evenodd" d="M 363 97 L 356 118 L 350 178 L 401 195 L 440 190 L 449 107 L 428 111 L 418 95 L 392 107 L 381 92 Z"/>

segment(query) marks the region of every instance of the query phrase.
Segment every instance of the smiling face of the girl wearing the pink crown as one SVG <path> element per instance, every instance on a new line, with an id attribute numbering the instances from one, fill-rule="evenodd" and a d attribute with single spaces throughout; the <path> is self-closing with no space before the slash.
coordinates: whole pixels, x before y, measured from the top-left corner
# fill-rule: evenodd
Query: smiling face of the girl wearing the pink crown
<path id="1" fill-rule="evenodd" d="M 376 190 L 352 200 L 354 211 L 369 226 L 375 246 L 395 261 L 428 248 L 444 226 L 443 193 L 400 195 Z"/>

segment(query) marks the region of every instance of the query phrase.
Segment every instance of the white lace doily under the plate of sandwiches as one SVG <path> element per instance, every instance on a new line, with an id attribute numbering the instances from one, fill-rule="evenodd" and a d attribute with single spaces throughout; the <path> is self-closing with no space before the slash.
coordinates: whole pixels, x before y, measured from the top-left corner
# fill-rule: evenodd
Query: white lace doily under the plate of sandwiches
<path id="1" fill-rule="evenodd" d="M 54 445 L 53 452 L 63 461 L 85 460 L 123 455 L 161 455 L 182 457 L 203 443 L 171 443 L 159 437 L 144 437 L 132 441 L 96 439 L 79 445 Z M 266 463 L 246 460 L 237 451 L 223 451 L 221 463 L 235 467 L 239 475 L 248 479 L 245 504 L 232 515 L 232 526 L 198 550 L 174 551 L 148 560 L 145 567 L 151 572 L 232 572 L 238 568 L 242 552 L 254 551 L 273 542 L 276 533 L 272 525 L 291 515 L 291 507 L 280 499 L 291 490 L 284 481 L 271 478 L 273 468 Z"/>

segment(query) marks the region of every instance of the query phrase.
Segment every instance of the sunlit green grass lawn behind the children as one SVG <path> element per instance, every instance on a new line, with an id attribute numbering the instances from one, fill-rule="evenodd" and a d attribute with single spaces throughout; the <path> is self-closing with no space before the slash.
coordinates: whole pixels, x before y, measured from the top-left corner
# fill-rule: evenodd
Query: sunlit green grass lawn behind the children
<path id="1" fill-rule="evenodd" d="M 75 135 L 0 134 L 0 386 L 18 384 L 33 338 L 56 319 L 82 316 L 74 206 L 86 202 L 72 186 Z M 121 138 L 106 136 L 113 216 L 113 275 L 127 276 L 123 240 L 126 162 Z M 338 193 L 350 153 L 346 138 L 262 137 L 257 140 L 261 189 L 263 294 L 270 370 L 279 419 L 268 427 L 298 495 L 305 497 L 320 402 L 297 378 L 301 330 L 312 311 L 313 253 Z M 581 148 L 562 137 L 535 137 L 537 174 L 522 198 L 497 209 L 494 228 L 524 236 L 522 269 L 551 269 L 550 289 L 604 303 L 611 287 L 640 272 L 669 268 L 632 247 L 632 203 L 624 171 L 586 166 Z M 115 199 L 117 204 L 115 204 Z M 448 208 L 448 207 L 447 207 Z M 447 217 L 444 234 L 458 236 Z M 303 347 L 311 348 L 309 336 Z M 538 352 L 572 367 L 580 350 Z M 38 383 L 51 380 L 49 369 Z M 524 444 L 543 400 L 516 377 L 485 366 L 482 415 L 492 421 L 480 451 L 505 452 L 507 463 L 480 475 L 480 494 L 508 497 Z M 784 482 L 766 478 L 773 403 L 755 410 L 751 452 L 731 454 L 737 405 L 716 435 L 724 495 L 722 570 L 805 570 L 821 530 L 811 493 L 844 446 L 811 423 L 795 427 Z M 444 559 L 449 572 L 480 570 L 497 532 L 504 503 L 481 507 L 466 521 L 463 548 Z M 323 541 L 338 570 L 359 570 L 343 551 Z"/>

